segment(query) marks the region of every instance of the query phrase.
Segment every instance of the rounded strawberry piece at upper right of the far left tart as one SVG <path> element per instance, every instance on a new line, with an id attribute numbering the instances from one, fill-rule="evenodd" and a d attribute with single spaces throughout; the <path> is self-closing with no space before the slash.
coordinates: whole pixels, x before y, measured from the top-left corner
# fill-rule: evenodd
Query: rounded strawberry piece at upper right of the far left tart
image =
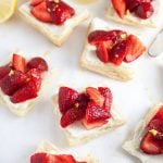
<path id="1" fill-rule="evenodd" d="M 41 72 L 48 71 L 48 64 L 42 58 L 33 58 L 28 63 L 27 67 L 30 68 L 38 68 Z"/>

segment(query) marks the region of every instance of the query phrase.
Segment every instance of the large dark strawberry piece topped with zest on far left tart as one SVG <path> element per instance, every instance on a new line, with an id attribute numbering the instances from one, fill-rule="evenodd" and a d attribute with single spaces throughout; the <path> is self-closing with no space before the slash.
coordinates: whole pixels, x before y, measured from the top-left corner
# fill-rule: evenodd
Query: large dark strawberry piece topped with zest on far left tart
<path id="1" fill-rule="evenodd" d="M 20 71 L 11 71 L 1 79 L 0 87 L 5 95 L 12 96 L 24 84 L 26 84 L 26 75 Z"/>

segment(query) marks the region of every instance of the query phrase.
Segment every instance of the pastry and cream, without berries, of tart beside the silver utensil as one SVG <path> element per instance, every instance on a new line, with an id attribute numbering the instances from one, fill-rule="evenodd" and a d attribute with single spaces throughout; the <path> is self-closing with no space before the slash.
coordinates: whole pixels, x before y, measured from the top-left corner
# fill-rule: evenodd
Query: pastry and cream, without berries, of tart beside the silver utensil
<path id="1" fill-rule="evenodd" d="M 110 25 L 106 22 L 96 17 L 90 23 L 88 35 L 95 30 L 111 29 L 112 28 L 110 28 Z M 82 67 L 121 82 L 128 82 L 134 78 L 136 61 L 131 63 L 122 62 L 121 65 L 115 65 L 111 62 L 104 63 L 99 60 L 96 54 L 96 46 L 90 45 L 88 40 L 86 40 L 86 45 L 80 58 Z"/>

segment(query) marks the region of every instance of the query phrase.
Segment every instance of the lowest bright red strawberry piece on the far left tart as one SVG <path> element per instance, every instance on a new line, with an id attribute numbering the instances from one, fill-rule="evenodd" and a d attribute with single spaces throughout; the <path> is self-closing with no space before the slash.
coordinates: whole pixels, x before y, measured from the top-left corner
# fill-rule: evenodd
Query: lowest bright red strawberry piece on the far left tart
<path id="1" fill-rule="evenodd" d="M 34 99 L 37 97 L 37 83 L 35 80 L 30 80 L 14 92 L 14 95 L 11 97 L 11 101 L 13 103 L 20 103 L 29 99 Z"/>

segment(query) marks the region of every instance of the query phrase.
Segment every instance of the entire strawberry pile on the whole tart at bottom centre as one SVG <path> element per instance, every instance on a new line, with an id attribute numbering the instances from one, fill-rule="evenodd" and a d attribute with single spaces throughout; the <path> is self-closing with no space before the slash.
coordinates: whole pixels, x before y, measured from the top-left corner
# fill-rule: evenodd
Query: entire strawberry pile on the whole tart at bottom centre
<path id="1" fill-rule="evenodd" d="M 59 108 L 62 113 L 61 126 L 67 127 L 76 121 L 83 121 L 87 129 L 98 127 L 111 117 L 112 93 L 109 88 L 88 87 L 86 92 L 78 93 L 72 88 L 61 87 Z"/>

